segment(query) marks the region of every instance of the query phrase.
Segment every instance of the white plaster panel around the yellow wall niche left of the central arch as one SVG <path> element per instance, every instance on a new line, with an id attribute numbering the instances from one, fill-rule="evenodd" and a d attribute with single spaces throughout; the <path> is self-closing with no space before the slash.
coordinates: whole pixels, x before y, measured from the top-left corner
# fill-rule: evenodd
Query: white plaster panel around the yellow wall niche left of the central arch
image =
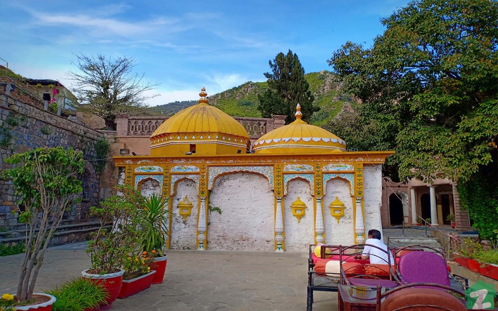
<path id="1" fill-rule="evenodd" d="M 176 186 L 176 195 L 172 199 L 173 214 L 175 215 L 171 221 L 170 248 L 172 249 L 196 249 L 198 193 L 197 184 L 190 179 L 181 180 Z M 185 199 L 185 196 L 192 202 L 193 208 L 192 213 L 184 223 L 183 217 L 178 213 L 178 204 Z"/>

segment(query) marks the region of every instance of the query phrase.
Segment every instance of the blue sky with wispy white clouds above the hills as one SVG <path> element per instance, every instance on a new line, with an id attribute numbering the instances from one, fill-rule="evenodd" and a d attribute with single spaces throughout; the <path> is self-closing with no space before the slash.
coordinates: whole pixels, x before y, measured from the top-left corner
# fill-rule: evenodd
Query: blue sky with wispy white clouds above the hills
<path id="1" fill-rule="evenodd" d="M 197 100 L 265 81 L 268 60 L 291 49 L 306 72 L 332 70 L 347 40 L 384 30 L 379 18 L 407 0 L 219 1 L 0 0 L 0 58 L 28 78 L 71 86 L 75 53 L 133 57 L 159 94 L 150 105 Z M 0 61 L 0 63 L 3 63 Z"/>

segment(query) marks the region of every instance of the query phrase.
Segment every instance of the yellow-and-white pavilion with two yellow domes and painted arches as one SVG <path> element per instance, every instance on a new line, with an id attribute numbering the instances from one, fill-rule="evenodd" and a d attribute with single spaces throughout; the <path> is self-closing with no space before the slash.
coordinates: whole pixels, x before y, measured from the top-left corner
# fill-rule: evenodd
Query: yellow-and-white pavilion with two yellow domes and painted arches
<path id="1" fill-rule="evenodd" d="M 169 248 L 303 251 L 381 229 L 381 165 L 394 152 L 346 151 L 299 105 L 294 122 L 251 146 L 244 126 L 199 95 L 150 136 L 150 156 L 114 157 L 120 184 L 161 194 L 178 215 Z"/>

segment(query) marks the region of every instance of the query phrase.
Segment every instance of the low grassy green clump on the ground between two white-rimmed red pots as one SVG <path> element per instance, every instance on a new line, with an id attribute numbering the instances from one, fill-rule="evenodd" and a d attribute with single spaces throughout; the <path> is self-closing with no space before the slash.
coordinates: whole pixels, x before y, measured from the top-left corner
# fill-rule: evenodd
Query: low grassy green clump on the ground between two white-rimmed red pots
<path id="1" fill-rule="evenodd" d="M 52 305 L 52 311 L 93 309 L 104 303 L 108 295 L 101 284 L 95 284 L 88 279 L 74 279 L 46 293 L 57 298 Z"/>

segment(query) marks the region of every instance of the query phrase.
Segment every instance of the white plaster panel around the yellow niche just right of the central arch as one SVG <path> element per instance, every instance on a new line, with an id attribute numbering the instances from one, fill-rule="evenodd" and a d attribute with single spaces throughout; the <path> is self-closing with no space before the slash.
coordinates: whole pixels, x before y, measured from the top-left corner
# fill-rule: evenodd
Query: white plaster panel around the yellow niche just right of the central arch
<path id="1" fill-rule="evenodd" d="M 284 197 L 284 232 L 285 251 L 306 251 L 313 244 L 315 231 L 313 228 L 313 197 L 310 184 L 302 179 L 294 179 L 288 183 L 287 196 Z M 291 204 L 297 197 L 306 204 L 306 214 L 297 222 L 292 215 Z"/>

